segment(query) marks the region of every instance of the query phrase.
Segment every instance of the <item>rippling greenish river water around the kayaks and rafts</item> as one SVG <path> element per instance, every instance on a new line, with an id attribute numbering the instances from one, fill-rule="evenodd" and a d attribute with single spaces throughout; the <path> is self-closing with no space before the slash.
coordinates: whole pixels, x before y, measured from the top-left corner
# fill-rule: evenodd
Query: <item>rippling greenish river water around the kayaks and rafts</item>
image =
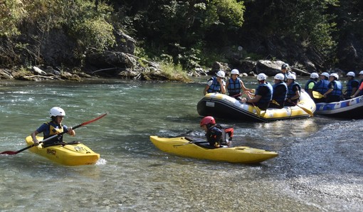
<path id="1" fill-rule="evenodd" d="M 280 154 L 256 165 L 154 147 L 150 135 L 204 135 L 202 82 L 0 81 L 0 152 L 26 147 L 53 106 L 63 107 L 68 126 L 109 112 L 64 138 L 98 152 L 93 166 L 61 166 L 28 151 L 0 155 L 0 211 L 362 211 L 363 120 L 217 120 L 234 127 L 234 146 Z"/>

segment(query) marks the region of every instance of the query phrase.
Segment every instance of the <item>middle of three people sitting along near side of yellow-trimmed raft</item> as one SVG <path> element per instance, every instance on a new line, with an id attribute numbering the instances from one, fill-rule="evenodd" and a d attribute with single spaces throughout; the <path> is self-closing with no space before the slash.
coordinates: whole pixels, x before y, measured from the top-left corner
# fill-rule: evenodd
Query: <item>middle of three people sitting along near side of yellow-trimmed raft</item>
<path id="1" fill-rule="evenodd" d="M 269 107 L 283 108 L 285 105 L 286 96 L 288 94 L 288 85 L 286 85 L 283 79 L 284 75 L 282 73 L 275 75 L 275 84 L 273 84 L 273 97 Z"/>

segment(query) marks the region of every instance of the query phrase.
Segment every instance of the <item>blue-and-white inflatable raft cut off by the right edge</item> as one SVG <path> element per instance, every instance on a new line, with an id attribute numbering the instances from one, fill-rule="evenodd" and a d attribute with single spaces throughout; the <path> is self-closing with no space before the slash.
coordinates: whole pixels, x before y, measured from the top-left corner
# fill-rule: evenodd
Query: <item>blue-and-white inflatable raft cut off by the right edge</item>
<path id="1" fill-rule="evenodd" d="M 340 102 L 317 103 L 316 114 L 347 119 L 363 118 L 363 96 Z"/>

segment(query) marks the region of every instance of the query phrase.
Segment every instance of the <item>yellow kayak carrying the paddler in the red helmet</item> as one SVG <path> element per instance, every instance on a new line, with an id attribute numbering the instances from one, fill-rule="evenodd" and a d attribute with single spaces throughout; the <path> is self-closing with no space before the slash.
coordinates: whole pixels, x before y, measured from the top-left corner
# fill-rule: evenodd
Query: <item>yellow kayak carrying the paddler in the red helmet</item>
<path id="1" fill-rule="evenodd" d="M 231 163 L 256 164 L 278 157 L 277 152 L 251 147 L 225 147 L 209 149 L 190 143 L 185 137 L 163 138 L 150 136 L 151 142 L 160 150 L 183 157 L 227 161 Z M 196 142 L 199 143 L 199 142 Z"/>

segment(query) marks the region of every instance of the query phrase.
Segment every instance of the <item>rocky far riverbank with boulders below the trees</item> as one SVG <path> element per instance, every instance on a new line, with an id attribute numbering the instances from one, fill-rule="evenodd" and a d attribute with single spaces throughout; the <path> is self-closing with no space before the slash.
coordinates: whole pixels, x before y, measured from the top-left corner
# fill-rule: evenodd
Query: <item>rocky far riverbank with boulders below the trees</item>
<path id="1" fill-rule="evenodd" d="M 19 36 L 20 43 L 26 43 L 26 48 L 19 48 L 18 44 L 0 38 L 2 55 L 0 56 L 0 78 L 17 80 L 81 80 L 90 77 L 126 78 L 137 80 L 181 80 L 165 74 L 160 68 L 160 63 L 148 61 L 135 56 L 137 42 L 134 38 L 121 31 L 115 33 L 117 44 L 107 51 L 99 52 L 89 50 L 84 55 L 75 55 L 75 41 L 68 37 L 61 29 L 51 30 L 43 35 L 41 42 L 34 41 L 30 35 Z M 347 38 L 348 39 L 348 38 Z M 349 38 L 351 41 L 352 38 Z M 278 44 L 280 43 L 280 44 Z M 347 63 L 362 63 L 357 46 L 352 42 L 345 42 L 347 48 L 340 52 Z M 297 75 L 309 75 L 312 72 L 326 71 L 322 68 L 322 58 L 317 51 L 307 50 L 302 46 L 293 45 L 293 41 L 280 42 L 275 38 L 261 42 L 259 45 L 263 53 L 269 53 L 282 60 L 251 60 L 243 57 L 242 53 L 235 50 L 226 50 L 228 63 L 216 61 L 210 68 L 195 68 L 187 73 L 190 76 L 214 75 L 218 70 L 229 74 L 231 69 L 237 68 L 244 75 L 265 73 L 273 76 L 280 72 L 283 63 L 293 61 L 290 68 Z M 24 44 L 25 45 L 25 44 Z M 256 44 L 257 45 L 257 44 Z M 294 51 L 286 46 L 294 46 Z M 248 48 L 248 45 L 246 45 Z M 31 51 L 33 50 L 33 51 Z M 292 54 L 292 52 L 294 54 Z M 344 55 L 344 56 L 343 56 Z M 26 65 L 33 59 L 38 65 Z M 20 67 L 20 68 L 19 68 Z M 28 68 L 26 68 L 28 67 Z M 34 68 L 36 67 L 36 68 Z M 37 69 L 39 68 L 39 70 Z M 330 72 L 344 75 L 349 70 L 330 70 Z"/>

